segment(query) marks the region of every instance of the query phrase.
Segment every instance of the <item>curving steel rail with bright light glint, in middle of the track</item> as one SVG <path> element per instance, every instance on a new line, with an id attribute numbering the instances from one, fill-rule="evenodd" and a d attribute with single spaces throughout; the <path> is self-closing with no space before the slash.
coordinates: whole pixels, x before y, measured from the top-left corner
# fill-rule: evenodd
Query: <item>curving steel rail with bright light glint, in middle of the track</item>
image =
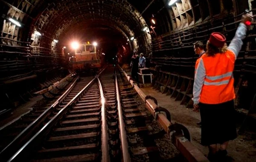
<path id="1" fill-rule="evenodd" d="M 103 93 L 102 84 L 98 78 L 100 98 L 101 98 L 101 114 L 102 114 L 102 162 L 110 162 L 109 150 L 108 150 L 108 124 L 106 119 L 106 110 L 105 110 L 105 97 Z"/>

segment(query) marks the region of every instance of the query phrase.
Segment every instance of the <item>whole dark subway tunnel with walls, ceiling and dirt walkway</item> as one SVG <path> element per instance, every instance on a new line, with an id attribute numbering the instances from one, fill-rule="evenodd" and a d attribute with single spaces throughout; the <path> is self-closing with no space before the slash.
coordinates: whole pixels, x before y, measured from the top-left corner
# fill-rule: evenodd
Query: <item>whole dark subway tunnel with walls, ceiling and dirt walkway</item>
<path id="1" fill-rule="evenodd" d="M 79 72 L 93 76 L 116 61 L 115 68 L 131 76 L 137 52 L 145 57 L 145 76 L 151 76 L 144 84 L 140 75 L 141 90 L 185 125 L 192 145 L 206 155 L 196 124 L 200 113 L 192 110 L 194 43 L 206 48 L 210 34 L 221 32 L 229 45 L 246 9 L 255 16 L 256 0 L 0 0 L 0 131 L 47 103 L 46 93 Z M 255 27 L 254 18 L 233 71 L 239 135 L 230 142 L 228 162 L 256 159 Z M 73 73 L 74 42 L 96 43 L 101 67 Z"/>

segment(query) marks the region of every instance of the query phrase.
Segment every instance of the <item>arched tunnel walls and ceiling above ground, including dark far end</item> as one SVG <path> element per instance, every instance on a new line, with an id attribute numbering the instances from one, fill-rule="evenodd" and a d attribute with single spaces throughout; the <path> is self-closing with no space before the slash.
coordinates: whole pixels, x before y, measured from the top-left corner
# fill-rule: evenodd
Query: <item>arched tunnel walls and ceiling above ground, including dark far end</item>
<path id="1" fill-rule="evenodd" d="M 117 57 L 128 67 L 136 50 L 152 73 L 193 79 L 193 43 L 221 32 L 229 44 L 245 9 L 256 14 L 256 0 L 0 0 L 0 111 L 68 75 L 74 40 L 97 42 L 105 63 Z M 248 30 L 234 71 L 236 107 L 244 110 L 256 94 L 255 31 Z"/>

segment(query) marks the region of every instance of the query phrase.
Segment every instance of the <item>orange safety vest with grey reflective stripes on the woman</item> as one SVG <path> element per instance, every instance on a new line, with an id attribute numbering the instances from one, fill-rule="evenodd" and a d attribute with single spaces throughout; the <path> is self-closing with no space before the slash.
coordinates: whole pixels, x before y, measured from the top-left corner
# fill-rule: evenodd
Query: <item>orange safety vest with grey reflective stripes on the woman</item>
<path id="1" fill-rule="evenodd" d="M 204 54 L 197 60 L 195 67 L 198 67 L 202 59 L 206 72 L 200 94 L 201 103 L 220 104 L 236 98 L 233 78 L 235 57 L 235 54 L 228 50 L 215 56 Z"/>

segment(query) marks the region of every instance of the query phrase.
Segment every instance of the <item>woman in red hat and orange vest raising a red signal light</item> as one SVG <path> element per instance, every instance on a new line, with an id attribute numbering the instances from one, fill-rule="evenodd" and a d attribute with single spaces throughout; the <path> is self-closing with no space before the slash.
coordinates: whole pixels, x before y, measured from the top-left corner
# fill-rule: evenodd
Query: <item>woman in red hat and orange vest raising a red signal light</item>
<path id="1" fill-rule="evenodd" d="M 194 110 L 200 108 L 201 144 L 209 147 L 209 160 L 225 157 L 228 142 L 237 137 L 233 70 L 251 21 L 252 15 L 243 15 L 229 46 L 224 35 L 213 32 L 207 51 L 196 61 L 192 100 Z"/>

